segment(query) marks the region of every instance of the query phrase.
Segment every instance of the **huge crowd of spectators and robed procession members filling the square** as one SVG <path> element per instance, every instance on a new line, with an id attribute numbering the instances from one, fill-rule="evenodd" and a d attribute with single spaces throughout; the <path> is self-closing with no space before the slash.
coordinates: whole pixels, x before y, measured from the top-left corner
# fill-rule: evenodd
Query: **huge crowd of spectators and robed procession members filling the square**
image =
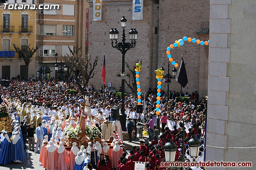
<path id="1" fill-rule="evenodd" d="M 62 156 L 66 156 L 66 160 L 72 160 L 66 161 L 64 169 L 73 170 L 78 167 L 77 165 L 90 162 L 91 156 L 88 150 L 91 151 L 97 148 L 98 157 L 96 156 L 96 159 L 98 167 L 91 167 L 91 169 L 98 168 L 100 170 L 110 170 L 112 168 L 117 168 L 123 170 L 129 166 L 130 169 L 133 170 L 134 162 L 140 161 L 148 162 L 148 164 L 146 164 L 148 170 L 158 170 L 160 168 L 159 164 L 165 155 L 164 145 L 167 142 L 172 141 L 178 146 L 176 153 L 176 160 L 178 160 L 181 150 L 180 143 L 182 143 L 182 123 L 184 123 L 185 127 L 185 143 L 187 143 L 190 138 L 196 136 L 202 142 L 200 158 L 203 156 L 202 150 L 204 150 L 206 100 L 204 98 L 199 100 L 197 92 L 188 95 L 188 93 L 182 94 L 182 92 L 180 92 L 179 94 L 178 92 L 173 91 L 169 96 L 162 92 L 162 95 L 160 96 L 159 115 L 156 115 L 155 90 L 151 91 L 151 89 L 149 89 L 148 92 L 141 95 L 142 105 L 145 106 L 143 113 L 137 113 L 136 111 L 136 106 L 138 104 L 138 102 L 136 102 L 136 97 L 134 98 L 132 94 L 126 96 L 124 105 L 125 114 L 127 115 L 126 127 L 129 134 L 129 142 L 132 142 L 131 134 L 133 131 L 135 132 L 135 137 L 137 137 L 137 122 L 146 123 L 146 129 L 149 135 L 146 142 L 141 141 L 140 147 L 135 147 L 130 150 L 130 155 L 126 160 L 124 156 L 126 152 L 119 152 L 119 150 L 122 150 L 122 147 L 118 145 L 119 142 L 123 141 L 122 132 L 116 129 L 118 122 L 114 121 L 113 117 L 111 117 L 111 107 L 116 106 L 121 108 L 122 100 L 116 97 L 114 93 L 116 90 L 113 88 L 112 90 L 108 90 L 106 87 L 101 87 L 100 90 L 95 90 L 93 85 L 86 86 L 85 95 L 88 96 L 89 104 L 91 106 L 90 114 L 103 122 L 111 121 L 113 123 L 114 121 L 115 124 L 113 123 L 110 131 L 116 131 L 120 137 L 114 139 L 117 140 L 117 145 L 116 143 L 112 143 L 111 145 L 115 147 L 114 150 L 117 150 L 113 153 L 117 154 L 118 152 L 118 155 L 124 154 L 124 158 L 119 156 L 118 158 L 120 159 L 118 160 L 118 163 L 120 164 L 113 166 L 113 162 L 117 161 L 111 160 L 113 156 L 109 155 L 110 153 L 107 154 L 107 152 L 103 151 L 104 147 L 108 146 L 104 145 L 104 142 L 100 144 L 101 147 L 92 145 L 91 148 L 88 147 L 89 149 L 80 148 L 80 150 L 76 147 L 76 143 L 73 143 L 70 151 L 64 151 L 64 144 L 66 143 L 63 131 L 69 125 L 74 128 L 79 125 L 79 116 L 77 115 L 81 114 L 82 108 L 80 103 L 85 102 L 85 97 L 79 91 L 74 79 L 66 79 L 62 87 L 55 78 L 39 80 L 37 77 L 32 77 L 25 81 L 17 76 L 11 80 L 9 87 L 0 86 L 1 98 L 10 101 L 9 116 L 12 118 L 12 133 L 2 131 L 0 147 L 0 159 L 5 157 L 6 155 L 3 153 L 6 154 L 7 152 L 10 153 L 10 159 L 1 159 L 3 161 L 0 161 L 0 164 L 6 164 L 10 161 L 22 162 L 25 158 L 24 149 L 27 149 L 26 143 L 28 143 L 29 150 L 38 152 L 39 149 L 38 153 L 40 153 L 40 161 L 42 161 L 42 166 L 44 162 L 46 169 L 60 169 L 60 166 L 62 167 L 63 164 L 59 165 L 58 162 L 60 162 L 60 159 L 58 158 L 60 155 L 58 154 L 62 154 Z M 180 101 L 180 96 L 188 98 L 184 101 Z M 168 97 L 170 98 L 169 100 Z M 121 109 L 119 109 L 119 113 L 120 112 Z M 102 131 L 102 138 L 104 140 L 107 141 L 113 139 L 112 132 L 105 132 L 104 127 L 102 126 L 104 123 L 102 124 L 97 120 L 91 119 L 87 119 L 87 121 L 87 125 L 98 124 L 98 128 Z M 160 135 L 160 137 L 154 136 L 154 129 L 161 130 L 162 135 Z M 36 139 L 34 138 L 34 133 L 36 133 Z M 116 138 L 116 136 L 114 138 Z M 35 141 L 36 147 L 34 147 Z M 10 150 L 6 151 L 2 146 L 7 146 L 9 145 L 8 143 L 10 144 Z M 192 158 L 189 156 L 187 144 L 185 145 L 185 149 L 187 158 L 192 161 Z M 86 152 L 84 152 L 84 150 Z M 13 158 L 12 154 L 14 152 L 19 153 L 18 155 L 20 156 L 18 158 Z M 49 158 L 41 158 L 41 154 L 46 152 L 49 154 Z M 48 154 L 42 155 L 45 156 Z M 72 156 L 70 157 L 70 155 Z M 55 161 L 56 163 L 47 161 L 53 157 L 54 159 L 52 159 L 52 161 Z M 110 164 L 111 167 L 109 166 Z M 97 165 L 95 164 L 95 166 Z M 79 166 L 78 169 L 84 167 L 85 165 Z"/>

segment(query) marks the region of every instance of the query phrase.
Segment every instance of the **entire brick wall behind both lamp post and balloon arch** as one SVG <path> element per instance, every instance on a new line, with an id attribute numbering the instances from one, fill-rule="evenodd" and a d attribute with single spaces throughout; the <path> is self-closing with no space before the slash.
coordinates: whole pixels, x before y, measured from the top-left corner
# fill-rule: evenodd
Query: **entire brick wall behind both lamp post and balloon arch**
<path id="1" fill-rule="evenodd" d="M 93 21 L 93 1 L 87 0 L 90 5 L 89 14 L 89 54 L 93 57 L 100 55 L 98 61 L 98 72 L 89 82 L 94 84 L 96 90 L 103 85 L 101 74 L 104 53 L 106 55 L 106 83 L 112 82 L 112 86 L 119 90 L 121 80 L 116 77 L 116 72 L 122 71 L 122 54 L 111 47 L 109 31 L 117 28 L 119 39 L 121 39 L 122 28 L 120 19 L 125 16 L 126 33 L 129 28 L 136 28 L 138 40 L 136 47 L 126 53 L 126 61 L 135 65 L 142 58 L 142 70 L 140 72 L 140 83 L 142 92 L 148 88 L 156 88 L 156 74 L 154 70 L 164 66 L 168 70 L 168 58 L 166 47 L 184 36 L 199 39 L 196 32 L 209 27 L 210 0 L 144 0 L 143 20 L 132 20 L 132 0 L 104 0 L 102 2 L 102 20 Z M 158 27 L 158 34 L 155 34 Z M 129 42 L 129 37 L 126 42 Z M 182 47 L 171 51 L 176 63 L 180 64 L 181 55 L 186 63 L 188 74 L 188 85 L 183 92 L 194 92 L 199 90 L 199 63 L 200 45 L 186 42 Z M 126 72 L 128 69 L 125 68 Z M 170 70 L 172 67 L 170 66 Z M 166 74 L 165 72 L 165 74 Z M 167 85 L 163 89 L 167 91 Z M 180 85 L 172 80 L 170 90 L 180 91 Z M 125 86 L 125 91 L 130 89 Z"/>

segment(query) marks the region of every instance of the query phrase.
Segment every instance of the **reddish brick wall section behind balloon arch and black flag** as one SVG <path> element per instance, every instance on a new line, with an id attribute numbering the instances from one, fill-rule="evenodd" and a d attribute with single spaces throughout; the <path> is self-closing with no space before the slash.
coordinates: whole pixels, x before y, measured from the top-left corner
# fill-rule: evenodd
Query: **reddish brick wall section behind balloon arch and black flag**
<path id="1" fill-rule="evenodd" d="M 209 17 L 210 0 L 159 0 L 158 67 L 164 66 L 165 74 L 168 70 L 166 48 L 184 36 L 200 39 L 196 32 L 209 27 Z M 186 41 L 181 47 L 172 49 L 171 55 L 179 65 L 183 55 L 186 64 L 188 84 L 182 92 L 199 91 L 200 45 Z M 167 92 L 165 86 L 163 90 Z M 180 84 L 175 80 L 169 86 L 169 90 L 180 92 Z"/>

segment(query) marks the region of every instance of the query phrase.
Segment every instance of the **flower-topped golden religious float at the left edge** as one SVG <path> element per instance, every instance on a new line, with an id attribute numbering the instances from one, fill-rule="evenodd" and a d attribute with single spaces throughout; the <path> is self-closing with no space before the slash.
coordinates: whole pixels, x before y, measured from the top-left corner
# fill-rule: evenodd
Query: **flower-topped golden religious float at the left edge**
<path id="1" fill-rule="evenodd" d="M 0 131 L 5 130 L 6 132 L 12 132 L 9 110 L 9 102 L 4 99 L 0 104 Z"/>

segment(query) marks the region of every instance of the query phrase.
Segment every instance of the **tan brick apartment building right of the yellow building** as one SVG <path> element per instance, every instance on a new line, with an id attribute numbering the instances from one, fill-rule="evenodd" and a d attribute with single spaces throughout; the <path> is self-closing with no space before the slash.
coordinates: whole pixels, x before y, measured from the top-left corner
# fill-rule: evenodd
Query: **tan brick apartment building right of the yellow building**
<path id="1" fill-rule="evenodd" d="M 67 78 L 64 71 L 64 55 L 70 54 L 74 46 L 82 47 L 81 55 L 88 54 L 89 7 L 84 0 L 39 0 L 39 4 L 59 4 L 59 9 L 37 10 L 36 72 L 41 79 L 50 77 Z M 54 65 L 59 68 L 55 71 Z"/>

